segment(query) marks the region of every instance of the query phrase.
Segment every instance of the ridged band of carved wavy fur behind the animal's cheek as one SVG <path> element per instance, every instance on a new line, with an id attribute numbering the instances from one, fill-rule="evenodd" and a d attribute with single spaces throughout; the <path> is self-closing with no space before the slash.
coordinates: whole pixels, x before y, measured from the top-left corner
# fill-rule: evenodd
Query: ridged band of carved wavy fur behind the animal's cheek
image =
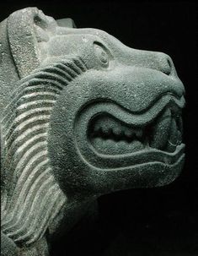
<path id="1" fill-rule="evenodd" d="M 18 244 L 42 237 L 67 203 L 51 172 L 48 128 L 58 96 L 86 70 L 80 57 L 36 69 L 19 81 L 3 112 L 2 231 Z"/>

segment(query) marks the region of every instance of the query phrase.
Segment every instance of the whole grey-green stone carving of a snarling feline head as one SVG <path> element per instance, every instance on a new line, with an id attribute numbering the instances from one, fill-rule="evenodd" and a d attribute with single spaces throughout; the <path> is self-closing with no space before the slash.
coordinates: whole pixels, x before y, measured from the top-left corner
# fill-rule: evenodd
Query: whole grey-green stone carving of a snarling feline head
<path id="1" fill-rule="evenodd" d="M 168 55 L 37 8 L 1 23 L 0 54 L 4 255 L 48 255 L 101 194 L 179 175 L 185 89 Z"/>

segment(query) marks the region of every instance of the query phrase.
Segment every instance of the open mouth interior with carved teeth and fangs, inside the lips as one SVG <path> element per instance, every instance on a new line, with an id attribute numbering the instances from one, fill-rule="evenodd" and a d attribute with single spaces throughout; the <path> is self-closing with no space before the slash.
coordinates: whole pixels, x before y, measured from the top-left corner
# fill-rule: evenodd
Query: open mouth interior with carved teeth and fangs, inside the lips
<path id="1" fill-rule="evenodd" d="M 122 155 L 142 150 L 174 152 L 182 141 L 179 112 L 166 108 L 152 123 L 129 126 L 119 119 L 99 114 L 88 126 L 88 139 L 104 155 Z"/>

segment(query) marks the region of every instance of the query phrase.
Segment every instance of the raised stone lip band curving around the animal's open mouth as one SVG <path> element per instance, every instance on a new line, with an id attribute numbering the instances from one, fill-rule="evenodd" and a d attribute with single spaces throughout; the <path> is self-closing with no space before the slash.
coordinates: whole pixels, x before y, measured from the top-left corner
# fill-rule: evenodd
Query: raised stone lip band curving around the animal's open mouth
<path id="1" fill-rule="evenodd" d="M 181 140 L 178 135 L 178 133 L 181 133 L 181 128 L 179 128 L 178 125 L 175 126 L 175 120 L 177 120 L 177 118 L 180 119 L 180 110 L 184 105 L 185 100 L 183 97 L 177 99 L 173 95 L 164 95 L 154 106 L 150 107 L 147 112 L 141 114 L 129 112 L 121 106 L 118 106 L 115 102 L 101 101 L 94 103 L 94 105 L 87 105 L 81 110 L 81 112 L 78 112 L 78 117 L 75 121 L 74 138 L 76 138 L 78 154 L 81 155 L 81 158 L 87 164 L 102 170 L 116 170 L 119 168 L 128 168 L 129 166 L 136 166 L 151 162 L 168 164 L 170 166 L 174 165 L 174 163 L 179 160 L 179 157 L 184 154 L 185 145 L 181 144 Z M 170 113 L 172 113 L 172 116 L 169 116 Z M 134 149 L 134 138 L 132 138 L 132 136 L 131 141 L 129 139 L 128 142 L 124 142 L 122 141 L 125 140 L 124 136 L 119 137 L 120 134 L 118 134 L 117 139 L 116 136 L 114 137 L 115 141 L 113 144 L 118 143 L 119 148 L 119 143 L 128 143 L 130 145 L 131 142 L 130 146 L 132 150 L 124 150 L 122 154 L 120 154 L 119 150 L 113 150 L 112 154 L 112 150 L 105 151 L 100 146 L 99 150 L 92 141 L 93 138 L 91 137 L 93 134 L 90 136 L 90 128 L 95 128 L 93 121 L 97 120 L 97 117 L 99 116 L 115 117 L 116 120 L 125 123 L 128 128 L 130 127 L 131 133 L 134 132 L 135 128 L 147 128 L 148 126 L 152 126 L 152 136 L 154 136 L 153 140 L 148 146 L 144 145 L 143 148 L 141 148 L 142 144 L 139 144 L 136 146 L 136 149 Z M 169 116 L 170 118 L 169 136 L 167 138 L 161 138 L 162 144 L 158 144 L 158 139 L 161 136 L 158 129 L 160 129 L 160 124 L 162 125 L 165 116 Z M 168 120 L 164 122 L 163 126 L 167 123 Z M 110 125 L 112 125 L 112 123 Z M 126 131 L 129 132 L 127 129 L 125 132 Z M 168 128 L 166 128 L 165 132 L 168 132 Z M 175 132 L 177 132 L 176 140 L 174 140 Z M 95 133 L 95 135 L 97 135 L 97 133 Z M 107 140 L 110 140 L 110 138 Z M 111 138 L 111 140 L 113 140 L 113 138 Z M 135 142 L 135 144 L 138 143 Z"/>

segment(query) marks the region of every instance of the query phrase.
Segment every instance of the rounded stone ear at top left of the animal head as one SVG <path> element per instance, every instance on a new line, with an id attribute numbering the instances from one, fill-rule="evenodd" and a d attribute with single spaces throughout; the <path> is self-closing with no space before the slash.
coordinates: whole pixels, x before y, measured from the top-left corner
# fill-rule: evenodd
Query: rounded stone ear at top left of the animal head
<path id="1" fill-rule="evenodd" d="M 23 78 L 46 56 L 45 43 L 56 33 L 56 21 L 38 8 L 24 8 L 8 17 L 8 43 L 13 61 Z"/>

